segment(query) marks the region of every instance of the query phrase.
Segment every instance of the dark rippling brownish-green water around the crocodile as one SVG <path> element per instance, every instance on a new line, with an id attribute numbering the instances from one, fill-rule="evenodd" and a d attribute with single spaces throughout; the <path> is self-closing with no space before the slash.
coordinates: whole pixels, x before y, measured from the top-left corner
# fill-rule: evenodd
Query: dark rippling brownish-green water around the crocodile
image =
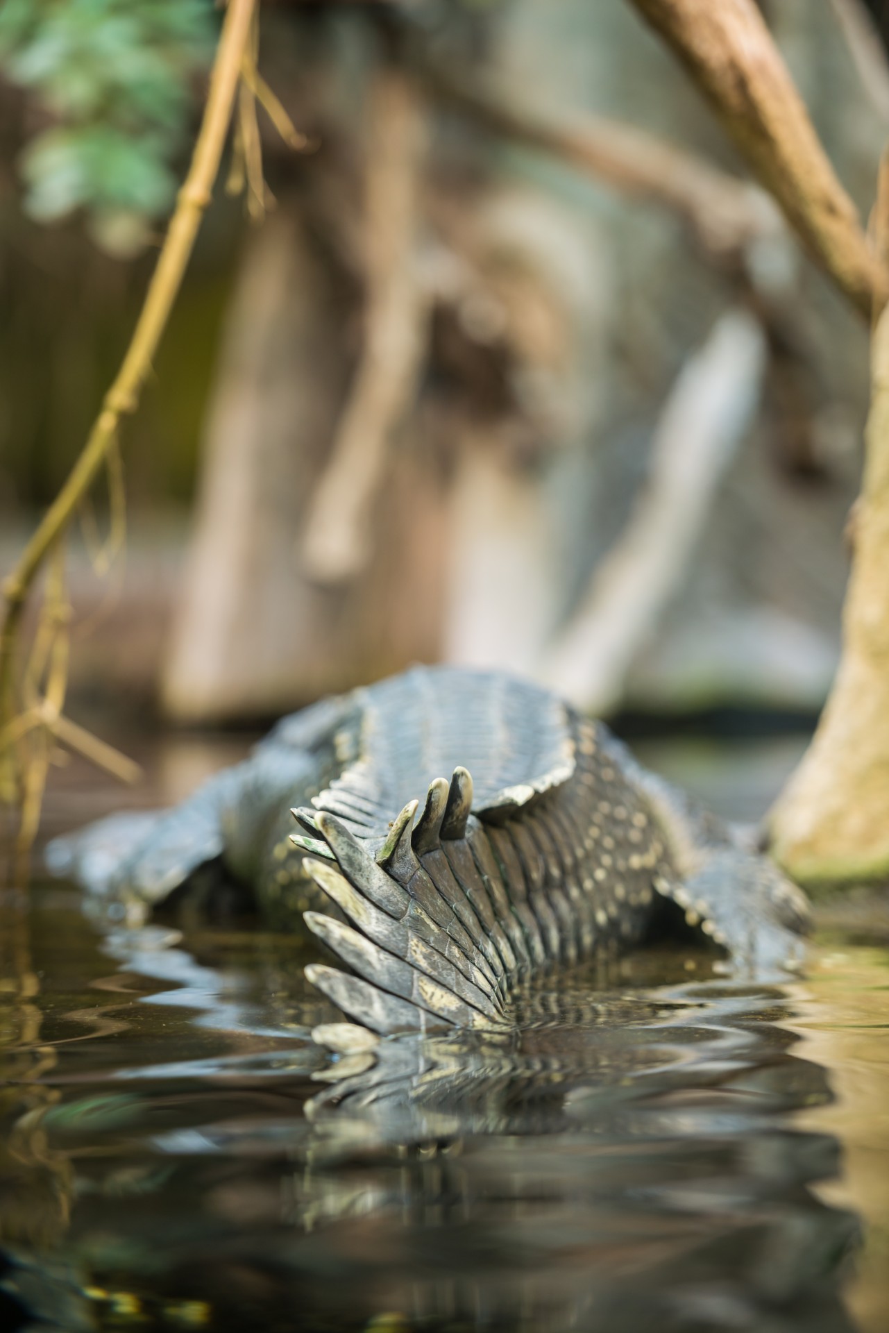
<path id="1" fill-rule="evenodd" d="M 159 798 L 232 757 L 177 744 L 184 768 L 149 756 Z M 646 758 L 749 818 L 793 749 Z M 49 824 L 115 797 L 68 774 Z M 885 1333 L 872 925 L 834 920 L 786 986 L 677 946 L 588 969 L 541 989 L 522 1065 L 480 1049 L 454 1073 L 443 1048 L 343 1114 L 299 941 L 109 932 L 64 885 L 7 893 L 0 1329 Z"/>

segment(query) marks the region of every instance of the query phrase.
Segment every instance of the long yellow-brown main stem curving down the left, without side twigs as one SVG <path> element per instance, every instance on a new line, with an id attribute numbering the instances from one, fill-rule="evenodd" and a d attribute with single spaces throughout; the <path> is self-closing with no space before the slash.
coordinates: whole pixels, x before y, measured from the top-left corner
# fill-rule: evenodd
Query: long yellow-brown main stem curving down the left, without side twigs
<path id="1" fill-rule="evenodd" d="M 113 445 L 120 417 L 135 412 L 151 372 L 203 212 L 211 200 L 256 4 L 257 0 L 229 0 L 195 153 L 132 341 L 83 453 L 3 585 L 5 617 L 0 631 L 0 721 L 15 716 L 15 652 L 28 592 L 48 551 L 71 523 Z"/>

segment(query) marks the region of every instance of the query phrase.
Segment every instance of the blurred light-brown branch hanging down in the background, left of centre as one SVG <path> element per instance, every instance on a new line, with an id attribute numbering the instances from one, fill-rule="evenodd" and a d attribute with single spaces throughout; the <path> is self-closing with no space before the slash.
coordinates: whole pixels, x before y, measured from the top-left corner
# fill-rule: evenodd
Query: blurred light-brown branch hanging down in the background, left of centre
<path id="1" fill-rule="evenodd" d="M 413 261 L 423 125 L 399 69 L 376 80 L 365 176 L 367 313 L 361 363 L 303 537 L 309 577 L 355 577 L 371 553 L 371 511 L 425 348 L 428 301 Z"/>

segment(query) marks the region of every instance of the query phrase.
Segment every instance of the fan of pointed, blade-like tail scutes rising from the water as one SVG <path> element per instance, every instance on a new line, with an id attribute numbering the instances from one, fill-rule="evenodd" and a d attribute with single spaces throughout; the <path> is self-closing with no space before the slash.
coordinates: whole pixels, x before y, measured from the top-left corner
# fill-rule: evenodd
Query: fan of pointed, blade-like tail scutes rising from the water
<path id="1" fill-rule="evenodd" d="M 510 1026 L 510 988 L 530 956 L 470 806 L 472 777 L 457 768 L 429 784 L 419 817 L 419 801 L 404 806 L 376 854 L 336 814 L 295 812 L 315 834 L 293 836 L 315 853 L 307 870 L 349 922 L 305 913 L 351 969 L 311 964 L 307 977 L 364 1028 Z"/>

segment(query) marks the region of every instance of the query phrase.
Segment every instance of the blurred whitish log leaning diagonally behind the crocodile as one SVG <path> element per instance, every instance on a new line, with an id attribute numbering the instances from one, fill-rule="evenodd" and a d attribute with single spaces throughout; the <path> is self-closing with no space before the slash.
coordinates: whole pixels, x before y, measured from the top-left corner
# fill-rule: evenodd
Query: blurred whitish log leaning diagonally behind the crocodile
<path id="1" fill-rule="evenodd" d="M 652 443 L 648 481 L 544 663 L 545 678 L 572 702 L 601 713 L 618 701 L 756 415 L 765 363 L 761 327 L 736 309 L 682 368 Z"/>

